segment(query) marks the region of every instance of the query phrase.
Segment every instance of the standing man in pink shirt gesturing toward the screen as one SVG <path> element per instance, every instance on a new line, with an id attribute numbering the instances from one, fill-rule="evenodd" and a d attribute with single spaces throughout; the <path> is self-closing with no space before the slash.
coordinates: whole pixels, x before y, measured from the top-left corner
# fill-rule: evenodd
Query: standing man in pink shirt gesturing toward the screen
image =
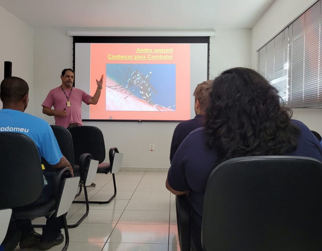
<path id="1" fill-rule="evenodd" d="M 64 69 L 62 71 L 62 85 L 52 89 L 42 103 L 43 113 L 55 116 L 55 125 L 70 127 L 83 125 L 81 121 L 81 102 L 85 104 L 97 104 L 102 90 L 103 75 L 97 83 L 94 96 L 90 96 L 81 89 L 73 87 L 74 71 Z M 54 109 L 51 109 L 54 106 Z"/>

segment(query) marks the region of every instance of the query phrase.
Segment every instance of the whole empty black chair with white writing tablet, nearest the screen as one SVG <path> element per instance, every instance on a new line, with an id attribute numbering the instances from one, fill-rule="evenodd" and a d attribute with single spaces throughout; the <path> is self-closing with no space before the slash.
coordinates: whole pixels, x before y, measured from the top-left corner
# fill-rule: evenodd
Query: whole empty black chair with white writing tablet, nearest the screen
<path id="1" fill-rule="evenodd" d="M 108 174 L 111 173 L 114 184 L 114 194 L 108 201 L 90 201 L 89 203 L 106 204 L 113 200 L 116 196 L 115 173 L 119 171 L 122 163 L 122 154 L 118 152 L 118 148 L 113 147 L 109 149 L 109 162 L 104 163 L 105 160 L 105 144 L 103 133 L 95 126 L 75 126 L 69 128 L 74 145 L 74 170 L 79 166 L 79 157 L 83 153 L 90 153 L 93 159 L 99 161 L 97 173 Z M 114 158 L 117 158 L 114 161 Z M 113 164 L 114 163 L 114 164 Z M 74 203 L 84 203 L 84 201 L 74 201 Z"/>

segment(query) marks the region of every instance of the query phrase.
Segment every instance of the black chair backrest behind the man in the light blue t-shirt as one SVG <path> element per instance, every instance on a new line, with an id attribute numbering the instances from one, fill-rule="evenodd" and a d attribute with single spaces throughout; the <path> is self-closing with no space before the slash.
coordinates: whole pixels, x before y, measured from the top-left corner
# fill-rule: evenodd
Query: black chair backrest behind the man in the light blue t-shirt
<path id="1" fill-rule="evenodd" d="M 31 204 L 43 193 L 43 170 L 32 139 L 18 132 L 0 133 L 0 208 Z"/>

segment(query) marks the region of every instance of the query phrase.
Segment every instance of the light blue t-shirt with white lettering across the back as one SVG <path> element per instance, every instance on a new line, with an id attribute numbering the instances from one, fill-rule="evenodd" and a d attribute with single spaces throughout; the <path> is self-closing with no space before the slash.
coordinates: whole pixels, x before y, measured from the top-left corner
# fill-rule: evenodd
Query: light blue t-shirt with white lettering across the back
<path id="1" fill-rule="evenodd" d="M 56 165 L 62 158 L 52 128 L 41 118 L 16 110 L 2 109 L 0 132 L 20 132 L 27 135 L 37 146 L 40 157 L 45 158 L 51 165 Z"/>

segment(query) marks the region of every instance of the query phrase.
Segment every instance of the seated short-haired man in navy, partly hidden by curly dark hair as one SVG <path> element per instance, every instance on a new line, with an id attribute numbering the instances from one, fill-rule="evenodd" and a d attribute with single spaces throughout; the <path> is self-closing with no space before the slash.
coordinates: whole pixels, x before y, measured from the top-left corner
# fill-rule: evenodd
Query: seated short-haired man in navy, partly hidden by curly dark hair
<path id="1" fill-rule="evenodd" d="M 209 103 L 209 93 L 211 92 L 212 84 L 213 80 L 204 81 L 198 84 L 194 90 L 194 112 L 196 116 L 194 119 L 183 121 L 176 126 L 170 148 L 170 164 L 178 147 L 189 133 L 204 126 L 204 113 Z"/>

